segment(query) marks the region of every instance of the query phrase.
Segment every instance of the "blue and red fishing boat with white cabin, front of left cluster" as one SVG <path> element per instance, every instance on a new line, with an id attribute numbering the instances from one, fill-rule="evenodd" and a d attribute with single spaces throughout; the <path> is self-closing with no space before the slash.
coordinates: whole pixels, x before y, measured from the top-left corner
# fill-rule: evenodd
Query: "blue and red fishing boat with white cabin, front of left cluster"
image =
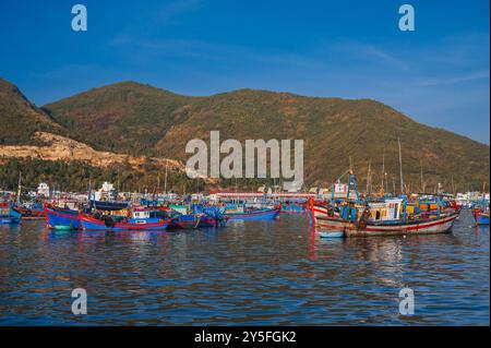
<path id="1" fill-rule="evenodd" d="M 113 217 L 110 215 L 87 215 L 79 213 L 79 220 L 83 230 L 165 230 L 170 219 L 159 209 L 136 209 L 130 218 Z"/>

